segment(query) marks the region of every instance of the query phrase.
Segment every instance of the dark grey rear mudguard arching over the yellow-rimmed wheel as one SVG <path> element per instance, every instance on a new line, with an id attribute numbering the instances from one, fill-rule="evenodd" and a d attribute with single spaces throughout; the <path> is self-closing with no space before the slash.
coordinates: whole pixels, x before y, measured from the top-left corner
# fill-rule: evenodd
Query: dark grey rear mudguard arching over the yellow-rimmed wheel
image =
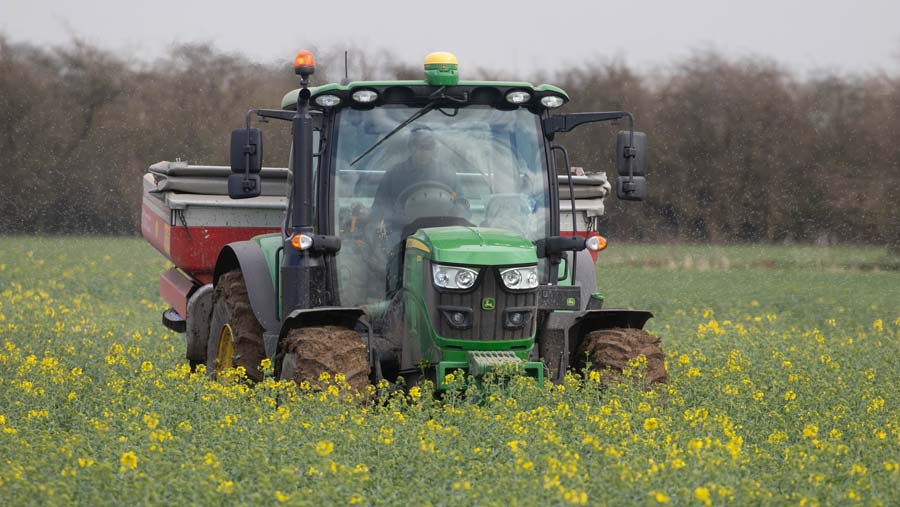
<path id="1" fill-rule="evenodd" d="M 219 277 L 223 273 L 236 269 L 244 274 L 247 295 L 250 297 L 250 306 L 256 320 L 265 329 L 266 334 L 277 334 L 281 329 L 278 301 L 266 257 L 259 245 L 253 241 L 236 241 L 225 245 L 216 260 L 213 285 L 219 283 Z"/>

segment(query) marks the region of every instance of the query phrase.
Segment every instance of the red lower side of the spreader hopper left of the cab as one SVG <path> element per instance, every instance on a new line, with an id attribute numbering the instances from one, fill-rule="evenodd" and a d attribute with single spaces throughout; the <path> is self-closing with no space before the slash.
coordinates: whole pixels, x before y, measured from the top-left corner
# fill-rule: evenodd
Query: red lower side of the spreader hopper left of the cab
<path id="1" fill-rule="evenodd" d="M 212 272 L 222 247 L 278 230 L 278 227 L 170 226 L 148 206 L 144 205 L 141 210 L 141 234 L 144 239 L 175 266 L 204 283 L 212 281 Z"/>

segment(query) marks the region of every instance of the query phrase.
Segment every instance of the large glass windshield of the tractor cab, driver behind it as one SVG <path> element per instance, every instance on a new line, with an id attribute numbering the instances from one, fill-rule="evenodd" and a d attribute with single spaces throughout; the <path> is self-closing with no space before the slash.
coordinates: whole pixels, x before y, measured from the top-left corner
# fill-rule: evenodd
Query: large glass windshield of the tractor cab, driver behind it
<path id="1" fill-rule="evenodd" d="M 334 228 L 342 238 L 344 305 L 384 300 L 399 289 L 401 241 L 415 229 L 470 225 L 547 236 L 539 118 L 525 109 L 434 109 L 353 164 L 418 109 L 340 112 Z"/>

